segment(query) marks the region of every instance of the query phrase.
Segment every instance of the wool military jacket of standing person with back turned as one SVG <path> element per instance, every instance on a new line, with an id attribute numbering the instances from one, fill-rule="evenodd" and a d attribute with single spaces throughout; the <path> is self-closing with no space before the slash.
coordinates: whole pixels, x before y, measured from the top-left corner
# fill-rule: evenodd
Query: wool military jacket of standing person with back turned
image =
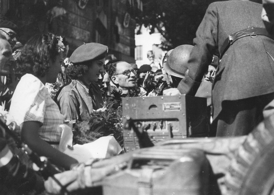
<path id="1" fill-rule="evenodd" d="M 212 55 L 220 56 L 225 39 L 249 26 L 264 27 L 262 5 L 251 1 L 223 1 L 209 5 L 198 27 L 187 64 L 189 73 L 178 89 L 194 95 Z M 274 92 L 274 41 L 266 36 L 236 40 L 223 55 L 213 82 L 213 119 L 224 100 L 238 100 Z"/>

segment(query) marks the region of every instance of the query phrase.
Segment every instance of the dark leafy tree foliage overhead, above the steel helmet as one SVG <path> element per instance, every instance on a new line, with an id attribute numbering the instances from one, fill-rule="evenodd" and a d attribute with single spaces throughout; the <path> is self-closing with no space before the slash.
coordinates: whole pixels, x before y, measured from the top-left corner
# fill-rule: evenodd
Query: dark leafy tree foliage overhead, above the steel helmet
<path id="1" fill-rule="evenodd" d="M 136 20 L 157 29 L 164 39 L 161 48 L 192 44 L 208 5 L 214 0 L 143 0 L 143 13 Z"/>

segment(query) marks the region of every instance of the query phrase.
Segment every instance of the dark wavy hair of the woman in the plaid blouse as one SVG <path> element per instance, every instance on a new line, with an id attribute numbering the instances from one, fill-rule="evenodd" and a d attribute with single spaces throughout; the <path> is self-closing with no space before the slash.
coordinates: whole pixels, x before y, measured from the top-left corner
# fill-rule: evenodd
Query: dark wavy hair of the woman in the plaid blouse
<path id="1" fill-rule="evenodd" d="M 19 78 L 27 73 L 43 77 L 50 68 L 50 59 L 54 62 L 56 55 L 58 55 L 58 38 L 54 34 L 34 35 L 21 51 L 15 74 Z"/>

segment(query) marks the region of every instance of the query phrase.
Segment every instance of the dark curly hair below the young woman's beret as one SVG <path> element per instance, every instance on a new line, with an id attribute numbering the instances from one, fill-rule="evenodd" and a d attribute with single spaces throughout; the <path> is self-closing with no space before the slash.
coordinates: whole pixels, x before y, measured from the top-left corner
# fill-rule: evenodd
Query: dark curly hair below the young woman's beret
<path id="1" fill-rule="evenodd" d="M 87 65 L 77 64 L 68 66 L 65 70 L 65 73 L 68 77 L 70 77 L 70 79 L 81 80 L 84 74 L 87 73 L 88 69 L 89 68 Z"/>

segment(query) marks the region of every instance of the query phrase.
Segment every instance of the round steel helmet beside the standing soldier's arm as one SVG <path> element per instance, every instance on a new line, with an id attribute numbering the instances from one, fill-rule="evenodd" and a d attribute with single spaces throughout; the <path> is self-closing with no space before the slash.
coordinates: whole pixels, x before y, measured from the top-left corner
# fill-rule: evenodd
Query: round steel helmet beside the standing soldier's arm
<path id="1" fill-rule="evenodd" d="M 192 45 L 180 45 L 168 53 L 167 63 L 163 64 L 165 72 L 179 78 L 185 77 L 187 61 L 192 50 Z"/>

